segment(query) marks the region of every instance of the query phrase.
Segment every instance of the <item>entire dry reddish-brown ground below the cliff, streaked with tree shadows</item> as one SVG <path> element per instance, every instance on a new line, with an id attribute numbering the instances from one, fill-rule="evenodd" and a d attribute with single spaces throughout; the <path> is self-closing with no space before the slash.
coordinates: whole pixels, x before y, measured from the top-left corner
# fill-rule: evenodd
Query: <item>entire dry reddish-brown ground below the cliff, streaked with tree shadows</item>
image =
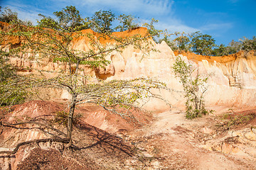
<path id="1" fill-rule="evenodd" d="M 7 115 L 49 117 L 63 108 L 62 103 L 33 101 L 16 106 Z M 14 156 L 1 154 L 0 167 L 256 169 L 255 110 L 230 110 L 222 106 L 212 109 L 216 112 L 195 120 L 186 120 L 185 113 L 177 108 L 146 116 L 136 113 L 141 122 L 136 123 L 121 120 L 100 108 L 79 108 L 82 117 L 75 123 L 72 149 L 64 149 L 55 142 L 27 145 Z M 14 121 L 12 118 L 8 119 Z M 65 131 L 64 125 L 53 127 Z M 49 132 L 35 126 L 1 128 L 0 149 L 14 147 L 17 142 L 28 139 L 49 137 Z"/>

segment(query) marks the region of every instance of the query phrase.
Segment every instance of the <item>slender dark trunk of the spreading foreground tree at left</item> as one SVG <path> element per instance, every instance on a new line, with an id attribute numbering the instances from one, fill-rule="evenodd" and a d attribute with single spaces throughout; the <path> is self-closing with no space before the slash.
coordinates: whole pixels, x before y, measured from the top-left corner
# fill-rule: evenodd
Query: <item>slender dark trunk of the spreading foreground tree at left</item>
<path id="1" fill-rule="evenodd" d="M 67 147 L 72 145 L 72 130 L 73 130 L 73 116 L 75 112 L 75 100 L 76 95 L 72 94 L 71 104 L 70 104 L 70 111 L 68 114 L 68 125 L 67 125 L 67 138 L 70 140 Z"/>

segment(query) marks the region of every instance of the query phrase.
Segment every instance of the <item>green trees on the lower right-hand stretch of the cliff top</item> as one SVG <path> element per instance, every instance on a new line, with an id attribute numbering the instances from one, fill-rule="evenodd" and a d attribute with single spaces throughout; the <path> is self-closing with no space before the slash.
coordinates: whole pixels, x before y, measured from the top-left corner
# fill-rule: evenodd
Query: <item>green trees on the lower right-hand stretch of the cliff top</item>
<path id="1" fill-rule="evenodd" d="M 211 35 L 196 33 L 177 33 L 177 38 L 170 39 L 164 37 L 159 42 L 165 41 L 172 50 L 189 51 L 198 55 L 224 56 L 231 55 L 240 50 L 246 52 L 256 50 L 256 37 L 252 39 L 241 38 L 239 41 L 232 40 L 227 46 L 224 44 L 216 45 Z"/>

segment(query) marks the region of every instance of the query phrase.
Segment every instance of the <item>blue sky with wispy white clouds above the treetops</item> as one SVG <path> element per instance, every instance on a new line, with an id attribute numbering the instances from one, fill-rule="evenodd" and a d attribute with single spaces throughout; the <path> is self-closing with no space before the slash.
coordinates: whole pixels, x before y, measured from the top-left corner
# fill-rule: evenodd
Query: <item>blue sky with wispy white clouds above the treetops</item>
<path id="1" fill-rule="evenodd" d="M 256 35 L 256 0 L 0 0 L 0 6 L 12 9 L 23 20 L 36 23 L 38 13 L 53 16 L 65 6 L 76 6 L 82 17 L 95 11 L 112 10 L 116 16 L 131 14 L 139 21 L 159 20 L 156 27 L 212 35 L 216 43 Z"/>

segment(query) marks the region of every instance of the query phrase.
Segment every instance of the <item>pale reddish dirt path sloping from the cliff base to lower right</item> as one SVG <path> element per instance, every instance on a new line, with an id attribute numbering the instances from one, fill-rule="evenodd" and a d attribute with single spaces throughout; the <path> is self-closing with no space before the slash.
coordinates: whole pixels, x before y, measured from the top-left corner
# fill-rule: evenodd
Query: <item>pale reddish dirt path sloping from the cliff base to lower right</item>
<path id="1" fill-rule="evenodd" d="M 135 135 L 141 136 L 136 139 L 140 141 L 137 147 L 146 158 L 151 158 L 149 169 L 256 169 L 256 157 L 247 157 L 240 152 L 223 154 L 204 148 L 204 138 L 220 138 L 215 137 L 211 128 L 213 121 L 209 121 L 214 115 L 186 120 L 182 111 L 173 110 L 155 116 L 152 125 L 137 130 Z"/>

